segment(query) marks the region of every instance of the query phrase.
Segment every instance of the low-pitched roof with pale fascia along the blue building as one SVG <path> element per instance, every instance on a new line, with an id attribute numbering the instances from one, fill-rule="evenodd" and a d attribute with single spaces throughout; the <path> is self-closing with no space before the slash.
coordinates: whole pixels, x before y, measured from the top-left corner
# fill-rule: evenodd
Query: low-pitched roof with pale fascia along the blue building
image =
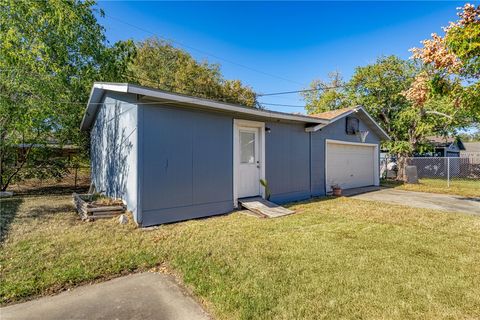
<path id="1" fill-rule="evenodd" d="M 152 104 L 158 103 L 161 105 L 173 105 L 179 107 L 195 107 L 206 110 L 214 110 L 221 112 L 228 112 L 234 116 L 249 116 L 266 118 L 269 120 L 285 120 L 302 122 L 307 125 L 307 131 L 317 131 L 322 127 L 348 115 L 353 112 L 360 112 L 364 121 L 369 123 L 373 131 L 382 139 L 389 140 L 390 137 L 385 131 L 373 120 L 373 118 L 367 113 L 367 111 L 361 107 L 352 107 L 346 109 L 339 109 L 331 111 L 329 115 L 302 115 L 278 112 L 265 109 L 250 108 L 238 104 L 219 102 L 210 99 L 197 98 L 187 96 L 178 93 L 172 93 L 154 88 L 143 87 L 130 83 L 110 83 L 110 82 L 96 82 L 93 84 L 92 91 L 90 92 L 90 98 L 87 102 L 87 108 L 83 116 L 82 123 L 80 125 L 81 130 L 90 129 L 93 121 L 95 120 L 97 110 L 102 105 L 102 98 L 106 91 L 131 93 L 137 95 L 139 102 L 137 104 Z"/>

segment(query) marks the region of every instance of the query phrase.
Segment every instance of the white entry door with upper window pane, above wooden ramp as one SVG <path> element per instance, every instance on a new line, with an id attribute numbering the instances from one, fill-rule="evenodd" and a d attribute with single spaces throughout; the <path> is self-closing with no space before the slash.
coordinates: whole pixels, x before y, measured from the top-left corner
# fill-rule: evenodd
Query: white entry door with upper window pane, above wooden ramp
<path id="1" fill-rule="evenodd" d="M 238 198 L 258 196 L 260 190 L 259 128 L 238 127 Z"/>

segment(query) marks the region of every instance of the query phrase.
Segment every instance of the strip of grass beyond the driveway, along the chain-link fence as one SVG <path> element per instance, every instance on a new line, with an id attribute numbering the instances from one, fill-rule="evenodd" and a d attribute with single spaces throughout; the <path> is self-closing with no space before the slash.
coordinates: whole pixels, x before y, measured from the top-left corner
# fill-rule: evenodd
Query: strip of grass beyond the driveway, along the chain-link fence
<path id="1" fill-rule="evenodd" d="M 404 184 L 394 180 L 384 180 L 382 185 L 401 190 L 453 194 L 464 197 L 480 198 L 479 179 L 454 179 L 447 187 L 447 181 L 443 179 L 420 179 L 418 184 Z"/>

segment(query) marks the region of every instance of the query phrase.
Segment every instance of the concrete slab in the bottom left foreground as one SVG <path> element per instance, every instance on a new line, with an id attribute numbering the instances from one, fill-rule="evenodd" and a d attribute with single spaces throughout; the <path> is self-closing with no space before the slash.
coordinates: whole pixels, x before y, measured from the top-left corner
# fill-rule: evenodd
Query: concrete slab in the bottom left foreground
<path id="1" fill-rule="evenodd" d="M 210 317 L 175 280 L 159 273 L 133 274 L 0 309 L 9 319 L 188 319 Z"/>

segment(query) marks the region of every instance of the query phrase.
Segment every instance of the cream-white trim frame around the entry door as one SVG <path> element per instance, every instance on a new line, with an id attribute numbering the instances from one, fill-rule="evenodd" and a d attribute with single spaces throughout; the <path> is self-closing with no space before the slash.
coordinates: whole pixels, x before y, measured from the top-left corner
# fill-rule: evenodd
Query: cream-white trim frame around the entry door
<path id="1" fill-rule="evenodd" d="M 259 146 L 260 152 L 260 179 L 265 179 L 265 122 L 233 119 L 233 207 L 238 207 L 238 130 L 240 127 L 258 128 L 259 130 Z M 260 184 L 260 181 L 258 182 Z M 261 189 L 261 196 L 265 199 L 265 188 Z"/>

